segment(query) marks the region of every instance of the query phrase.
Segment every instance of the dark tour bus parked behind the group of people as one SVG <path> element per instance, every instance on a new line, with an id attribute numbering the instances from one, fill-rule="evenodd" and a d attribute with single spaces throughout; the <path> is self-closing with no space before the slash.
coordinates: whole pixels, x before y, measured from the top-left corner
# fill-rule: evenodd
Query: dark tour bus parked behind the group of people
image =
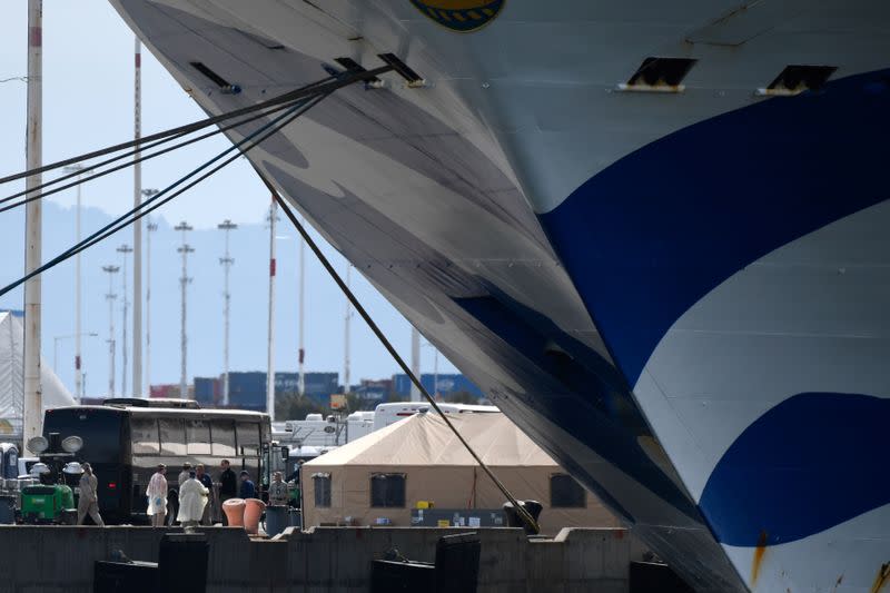
<path id="1" fill-rule="evenodd" d="M 170 490 L 178 488 L 185 462 L 202 463 L 218 482 L 222 459 L 236 474 L 249 472 L 259 488 L 271 425 L 268 414 L 258 412 L 200 409 L 182 399 L 112 398 L 101 406 L 48 409 L 43 436 L 50 433 L 83 439 L 76 457 L 89 462 L 99 478 L 99 512 L 107 523 L 145 523 L 146 487 L 159 463 L 167 466 Z"/>

